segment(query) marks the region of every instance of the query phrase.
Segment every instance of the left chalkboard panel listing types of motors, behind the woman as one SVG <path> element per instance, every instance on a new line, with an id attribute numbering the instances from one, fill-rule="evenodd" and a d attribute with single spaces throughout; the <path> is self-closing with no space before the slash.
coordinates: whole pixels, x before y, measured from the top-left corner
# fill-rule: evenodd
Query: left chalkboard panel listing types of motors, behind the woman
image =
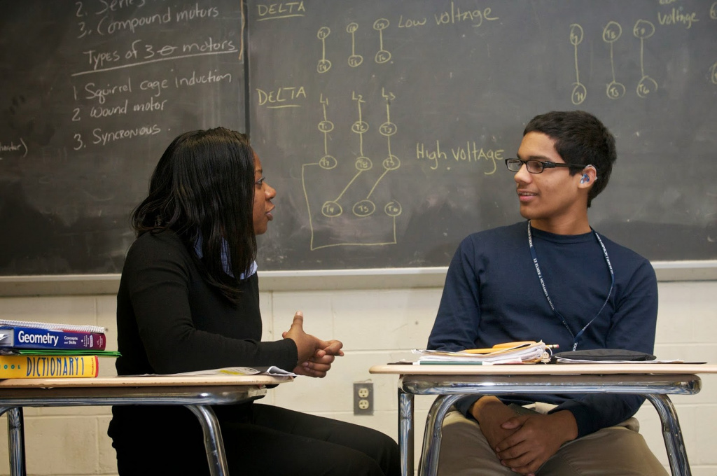
<path id="1" fill-rule="evenodd" d="M 117 273 L 170 141 L 244 130 L 236 0 L 0 1 L 0 275 Z"/>

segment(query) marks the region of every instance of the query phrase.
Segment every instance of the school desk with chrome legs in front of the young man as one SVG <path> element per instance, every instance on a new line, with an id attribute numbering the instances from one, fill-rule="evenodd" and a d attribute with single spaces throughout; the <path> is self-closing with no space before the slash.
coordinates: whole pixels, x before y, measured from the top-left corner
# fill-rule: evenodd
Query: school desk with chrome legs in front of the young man
<path id="1" fill-rule="evenodd" d="M 371 373 L 399 376 L 399 447 L 402 474 L 413 475 L 414 395 L 437 395 L 428 411 L 419 476 L 435 475 L 443 418 L 467 394 L 637 394 L 649 400 L 662 422 L 670 469 L 691 474 L 675 407 L 668 395 L 696 394 L 698 373 L 717 373 L 717 365 L 689 363 L 588 363 L 534 365 L 379 365 Z"/>

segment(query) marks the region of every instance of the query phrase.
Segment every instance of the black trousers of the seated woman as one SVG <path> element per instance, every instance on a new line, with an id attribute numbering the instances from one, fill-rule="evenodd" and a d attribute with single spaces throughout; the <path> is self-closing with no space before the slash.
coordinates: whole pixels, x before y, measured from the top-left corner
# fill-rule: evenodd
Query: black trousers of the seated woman
<path id="1" fill-rule="evenodd" d="M 262 404 L 214 406 L 232 475 L 399 476 L 393 439 Z M 115 406 L 108 434 L 121 476 L 209 475 L 201 426 L 181 406 Z"/>

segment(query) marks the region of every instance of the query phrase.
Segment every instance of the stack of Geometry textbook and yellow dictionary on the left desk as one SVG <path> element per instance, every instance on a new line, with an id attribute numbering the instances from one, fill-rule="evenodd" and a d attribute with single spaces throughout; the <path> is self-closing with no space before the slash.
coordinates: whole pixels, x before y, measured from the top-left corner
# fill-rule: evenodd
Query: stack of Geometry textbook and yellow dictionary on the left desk
<path id="1" fill-rule="evenodd" d="M 0 320 L 0 379 L 98 376 L 106 329 L 98 325 Z"/>

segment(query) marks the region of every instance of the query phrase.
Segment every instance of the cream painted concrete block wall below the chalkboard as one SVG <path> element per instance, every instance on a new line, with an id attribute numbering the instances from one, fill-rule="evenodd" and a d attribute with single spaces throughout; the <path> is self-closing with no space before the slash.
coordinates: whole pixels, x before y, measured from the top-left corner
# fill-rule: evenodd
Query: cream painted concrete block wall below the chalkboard
<path id="1" fill-rule="evenodd" d="M 660 313 L 655 353 L 717 363 L 717 281 L 660 282 Z M 270 390 L 264 402 L 298 411 L 364 424 L 397 438 L 397 389 L 394 376 L 371 376 L 374 364 L 409 357 L 425 346 L 440 300 L 440 287 L 388 290 L 262 292 L 264 339 L 280 338 L 295 310 L 303 310 L 305 330 L 344 343 L 326 379 L 299 378 Z M 21 320 L 95 323 L 109 329 L 116 348 L 114 295 L 0 298 L 0 316 Z M 111 358 L 100 360 L 100 375 L 114 374 Z M 374 414 L 353 415 L 353 382 L 374 383 Z M 415 428 L 423 432 L 431 397 L 418 396 Z M 714 451 L 717 376 L 703 377 L 703 390 L 674 396 L 688 457 L 695 476 L 717 474 Z M 115 453 L 107 437 L 106 407 L 25 409 L 28 475 L 116 475 Z M 638 413 L 652 451 L 667 465 L 657 414 L 650 404 Z M 0 475 L 9 474 L 5 417 L 0 420 Z M 227 451 L 231 449 L 227 448 Z"/>

